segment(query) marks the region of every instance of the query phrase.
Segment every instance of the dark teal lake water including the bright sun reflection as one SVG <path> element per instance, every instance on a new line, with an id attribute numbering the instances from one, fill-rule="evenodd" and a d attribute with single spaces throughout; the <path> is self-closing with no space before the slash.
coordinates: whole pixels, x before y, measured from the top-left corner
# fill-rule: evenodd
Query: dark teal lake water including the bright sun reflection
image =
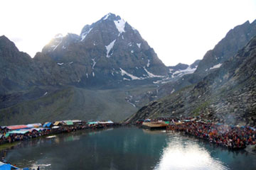
<path id="1" fill-rule="evenodd" d="M 36 169 L 256 169 L 256 155 L 232 152 L 178 132 L 114 128 L 42 137 L 6 153 Z"/>

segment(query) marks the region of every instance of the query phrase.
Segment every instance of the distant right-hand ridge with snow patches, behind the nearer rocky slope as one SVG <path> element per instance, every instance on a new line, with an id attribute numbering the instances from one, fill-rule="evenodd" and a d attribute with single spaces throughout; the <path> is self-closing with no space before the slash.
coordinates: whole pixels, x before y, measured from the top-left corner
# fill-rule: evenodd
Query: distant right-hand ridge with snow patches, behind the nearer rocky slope
<path id="1" fill-rule="evenodd" d="M 176 67 L 169 67 L 169 78 L 171 79 L 157 81 L 159 84 L 164 84 L 154 91 L 134 96 L 134 100 L 138 101 L 138 98 L 144 98 L 143 100 L 146 101 L 154 101 L 158 98 L 163 98 L 164 96 L 173 94 L 174 91 L 179 91 L 186 86 L 193 86 L 194 84 L 197 84 L 208 74 L 214 72 L 215 69 L 218 69 L 223 62 L 229 60 L 230 57 L 233 57 L 233 55 L 244 47 L 255 35 L 256 20 L 252 23 L 247 21 L 240 26 L 236 26 L 231 29 L 227 35 L 225 35 L 225 38 L 215 45 L 213 50 L 206 52 L 203 60 L 197 60 L 191 64 L 190 67 L 186 64 L 178 64 L 178 70 L 175 69 Z"/>

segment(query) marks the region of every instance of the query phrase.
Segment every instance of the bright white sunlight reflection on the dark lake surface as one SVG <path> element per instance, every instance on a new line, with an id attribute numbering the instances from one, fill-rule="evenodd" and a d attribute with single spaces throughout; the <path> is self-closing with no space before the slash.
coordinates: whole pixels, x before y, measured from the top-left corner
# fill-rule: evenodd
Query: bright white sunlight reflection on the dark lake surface
<path id="1" fill-rule="evenodd" d="M 175 134 L 169 135 L 166 140 L 168 145 L 154 169 L 228 169 L 223 162 L 211 157 L 210 152 L 197 141 Z"/>

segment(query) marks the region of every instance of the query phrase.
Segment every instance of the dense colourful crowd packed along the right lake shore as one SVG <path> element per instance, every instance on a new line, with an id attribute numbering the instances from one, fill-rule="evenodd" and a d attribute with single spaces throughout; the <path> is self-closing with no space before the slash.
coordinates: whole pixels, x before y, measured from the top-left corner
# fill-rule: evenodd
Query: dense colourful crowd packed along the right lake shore
<path id="1" fill-rule="evenodd" d="M 171 123 L 168 130 L 178 130 L 187 134 L 206 139 L 209 142 L 228 147 L 230 149 L 245 148 L 256 144 L 256 130 L 251 127 L 237 127 L 220 123 L 204 123 L 185 121 Z"/>

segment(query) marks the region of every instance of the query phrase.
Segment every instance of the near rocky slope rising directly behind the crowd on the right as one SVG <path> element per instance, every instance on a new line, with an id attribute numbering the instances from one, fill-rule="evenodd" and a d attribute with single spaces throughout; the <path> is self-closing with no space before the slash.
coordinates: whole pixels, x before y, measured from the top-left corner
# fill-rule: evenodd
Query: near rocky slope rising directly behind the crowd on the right
<path id="1" fill-rule="evenodd" d="M 152 101 L 129 118 L 199 116 L 231 125 L 255 126 L 256 36 L 219 68 L 194 86 L 186 86 L 159 101 Z"/>

